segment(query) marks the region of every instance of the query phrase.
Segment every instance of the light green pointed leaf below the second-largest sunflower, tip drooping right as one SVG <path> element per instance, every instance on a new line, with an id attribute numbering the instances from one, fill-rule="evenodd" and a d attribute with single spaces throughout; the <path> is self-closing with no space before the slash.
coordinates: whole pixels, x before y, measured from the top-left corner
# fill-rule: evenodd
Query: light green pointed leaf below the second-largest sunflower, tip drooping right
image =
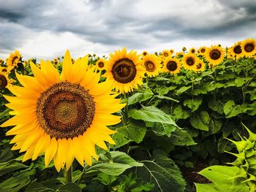
<path id="1" fill-rule="evenodd" d="M 167 115 L 157 107 L 143 107 L 140 110 L 131 109 L 128 112 L 129 116 L 136 120 L 145 120 L 148 122 L 166 123 L 177 126 L 170 115 Z M 177 126 L 178 127 L 178 126 Z"/>

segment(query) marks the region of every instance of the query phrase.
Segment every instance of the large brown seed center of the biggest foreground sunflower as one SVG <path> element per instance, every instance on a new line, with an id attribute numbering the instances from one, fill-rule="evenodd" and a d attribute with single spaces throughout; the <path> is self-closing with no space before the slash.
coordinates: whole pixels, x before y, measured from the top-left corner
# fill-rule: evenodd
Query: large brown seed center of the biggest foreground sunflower
<path id="1" fill-rule="evenodd" d="M 94 120 L 94 100 L 83 87 L 59 82 L 41 94 L 37 100 L 39 125 L 56 139 L 83 134 Z"/>

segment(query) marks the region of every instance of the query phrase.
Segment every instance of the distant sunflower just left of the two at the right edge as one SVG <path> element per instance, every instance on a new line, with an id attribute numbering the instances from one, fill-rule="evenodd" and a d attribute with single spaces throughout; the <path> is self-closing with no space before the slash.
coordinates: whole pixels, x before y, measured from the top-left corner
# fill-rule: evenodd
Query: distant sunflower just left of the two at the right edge
<path id="1" fill-rule="evenodd" d="M 207 48 L 205 57 L 210 67 L 217 66 L 224 59 L 224 50 L 219 45 L 211 45 Z"/>

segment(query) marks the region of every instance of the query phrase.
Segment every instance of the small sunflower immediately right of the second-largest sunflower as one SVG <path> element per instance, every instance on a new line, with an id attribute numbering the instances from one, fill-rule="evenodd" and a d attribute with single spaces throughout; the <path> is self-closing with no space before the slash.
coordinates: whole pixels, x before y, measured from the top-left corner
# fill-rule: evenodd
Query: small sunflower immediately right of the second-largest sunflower
<path id="1" fill-rule="evenodd" d="M 143 64 L 148 77 L 156 77 L 161 69 L 161 61 L 154 54 L 148 54 L 143 57 Z"/>

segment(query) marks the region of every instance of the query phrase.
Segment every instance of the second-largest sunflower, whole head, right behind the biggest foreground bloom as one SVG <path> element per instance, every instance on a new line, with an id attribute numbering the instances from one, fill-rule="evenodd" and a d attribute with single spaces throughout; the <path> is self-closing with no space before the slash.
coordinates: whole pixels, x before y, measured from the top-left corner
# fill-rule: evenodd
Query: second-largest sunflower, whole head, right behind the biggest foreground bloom
<path id="1" fill-rule="evenodd" d="M 108 66 L 105 67 L 106 73 L 102 76 L 113 83 L 116 91 L 128 93 L 143 84 L 145 69 L 142 62 L 136 51 L 127 53 L 124 47 L 110 53 Z"/>

